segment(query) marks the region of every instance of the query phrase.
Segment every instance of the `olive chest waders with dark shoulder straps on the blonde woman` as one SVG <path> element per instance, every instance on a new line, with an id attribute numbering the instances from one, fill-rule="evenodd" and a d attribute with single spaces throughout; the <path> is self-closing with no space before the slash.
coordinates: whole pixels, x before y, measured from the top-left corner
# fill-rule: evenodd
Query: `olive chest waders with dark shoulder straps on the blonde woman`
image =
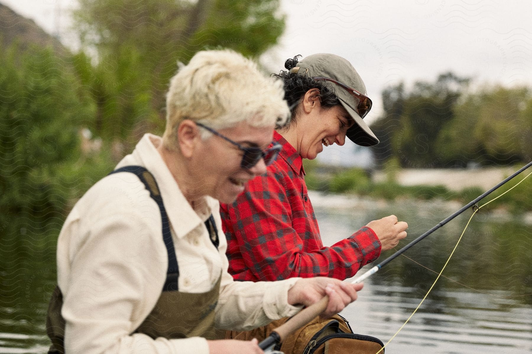
<path id="1" fill-rule="evenodd" d="M 176 339 L 193 336 L 201 336 L 206 339 L 223 338 L 225 331 L 217 330 L 214 327 L 214 308 L 218 304 L 221 276 L 213 288 L 207 292 L 180 292 L 178 290 L 179 268 L 170 234 L 170 222 L 168 221 L 168 215 L 164 209 L 161 193 L 155 178 L 141 166 L 122 167 L 114 170 L 111 174 L 117 172 L 131 172 L 138 176 L 149 191 L 149 195 L 159 206 L 162 220 L 162 237 L 168 253 L 167 279 L 164 282 L 161 296 L 152 312 L 131 334 L 143 333 L 153 339 L 158 337 Z M 213 245 L 218 248 L 218 231 L 212 214 L 205 221 L 205 226 L 209 230 Z M 46 318 L 46 332 L 52 340 L 48 354 L 64 354 L 65 321 L 61 315 L 62 306 L 63 296 L 59 286 L 56 286 L 48 306 L 48 316 Z"/>

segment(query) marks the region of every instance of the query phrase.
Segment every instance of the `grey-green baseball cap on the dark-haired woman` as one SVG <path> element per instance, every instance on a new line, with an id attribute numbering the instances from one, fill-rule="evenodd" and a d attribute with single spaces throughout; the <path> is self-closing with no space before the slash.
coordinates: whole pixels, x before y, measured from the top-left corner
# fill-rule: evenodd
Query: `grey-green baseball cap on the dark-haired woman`
<path id="1" fill-rule="evenodd" d="M 334 87 L 340 103 L 355 120 L 355 124 L 347 130 L 346 136 L 355 144 L 362 146 L 372 146 L 379 143 L 375 134 L 364 123 L 363 117 L 371 108 L 371 100 L 367 97 L 364 82 L 350 62 L 334 54 L 313 54 L 298 62 L 295 67 L 290 69 L 290 73 L 320 77 L 321 80 L 329 79 L 327 81 Z M 350 88 L 358 92 L 353 92 L 349 90 Z M 363 96 L 359 93 L 362 93 Z M 359 112 L 362 116 L 359 115 Z"/>

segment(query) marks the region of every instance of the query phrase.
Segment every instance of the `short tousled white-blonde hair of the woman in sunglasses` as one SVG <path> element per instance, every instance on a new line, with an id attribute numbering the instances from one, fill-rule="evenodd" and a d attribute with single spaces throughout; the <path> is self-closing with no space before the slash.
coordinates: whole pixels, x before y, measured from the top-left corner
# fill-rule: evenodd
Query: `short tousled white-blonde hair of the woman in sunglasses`
<path id="1" fill-rule="evenodd" d="M 284 96 L 282 81 L 262 74 L 250 59 L 229 49 L 200 51 L 170 80 L 163 144 L 178 149 L 177 130 L 184 119 L 213 129 L 246 121 L 273 130 L 290 116 Z"/>

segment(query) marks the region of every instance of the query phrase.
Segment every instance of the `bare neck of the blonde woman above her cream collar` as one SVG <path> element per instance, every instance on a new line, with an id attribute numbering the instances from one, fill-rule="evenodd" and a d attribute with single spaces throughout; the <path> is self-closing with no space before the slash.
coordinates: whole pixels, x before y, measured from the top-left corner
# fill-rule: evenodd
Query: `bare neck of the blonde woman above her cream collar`
<path id="1" fill-rule="evenodd" d="M 194 208 L 195 203 L 202 198 L 205 193 L 197 186 L 202 186 L 201 176 L 195 176 L 189 167 L 187 159 L 179 151 L 171 151 L 163 144 L 157 148 L 164 163 L 167 165 L 173 179 L 176 180 L 179 190 L 186 200 Z"/>

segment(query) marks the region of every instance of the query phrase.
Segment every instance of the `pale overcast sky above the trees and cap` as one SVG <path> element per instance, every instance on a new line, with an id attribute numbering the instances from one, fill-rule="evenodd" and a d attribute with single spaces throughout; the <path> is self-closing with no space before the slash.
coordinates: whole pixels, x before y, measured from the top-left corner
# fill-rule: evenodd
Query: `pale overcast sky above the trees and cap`
<path id="1" fill-rule="evenodd" d="M 0 0 L 49 32 L 65 33 L 75 0 Z M 281 0 L 287 28 L 262 62 L 271 71 L 296 54 L 334 53 L 362 76 L 374 108 L 380 92 L 453 71 L 478 84 L 532 87 L 532 2 L 525 0 Z M 64 9 L 61 12 L 58 9 Z M 59 14 L 62 13 L 62 16 Z M 331 148 L 329 148 L 331 149 Z M 328 150 L 329 150 L 328 149 Z"/>

